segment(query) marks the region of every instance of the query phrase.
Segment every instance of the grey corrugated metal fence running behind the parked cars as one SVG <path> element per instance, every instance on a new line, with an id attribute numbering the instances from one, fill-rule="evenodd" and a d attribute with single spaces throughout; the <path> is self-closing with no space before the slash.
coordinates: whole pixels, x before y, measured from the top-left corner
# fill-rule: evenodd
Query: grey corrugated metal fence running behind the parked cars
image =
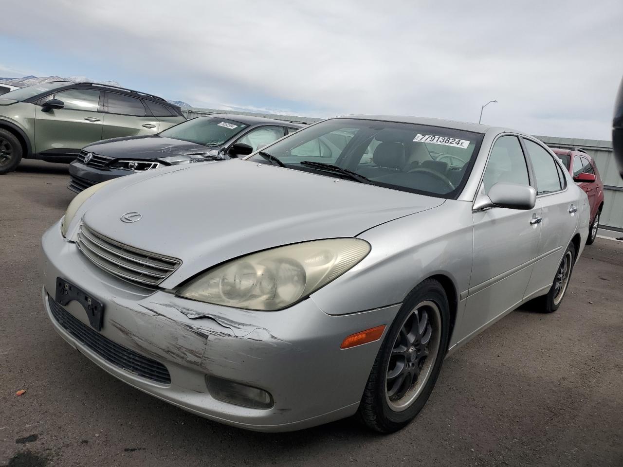
<path id="1" fill-rule="evenodd" d="M 182 113 L 186 118 L 194 118 L 201 115 L 225 113 L 235 115 L 253 115 L 275 120 L 285 120 L 292 123 L 314 123 L 321 118 L 303 117 L 295 115 L 273 115 L 267 113 L 240 112 L 234 110 L 218 110 L 211 108 L 183 108 Z M 623 181 L 619 177 L 612 142 L 599 139 L 580 138 L 557 138 L 555 136 L 536 136 L 543 143 L 556 148 L 582 148 L 589 153 L 597 164 L 597 169 L 604 182 L 604 209 L 601 213 L 600 224 L 603 227 L 623 231 Z"/>

